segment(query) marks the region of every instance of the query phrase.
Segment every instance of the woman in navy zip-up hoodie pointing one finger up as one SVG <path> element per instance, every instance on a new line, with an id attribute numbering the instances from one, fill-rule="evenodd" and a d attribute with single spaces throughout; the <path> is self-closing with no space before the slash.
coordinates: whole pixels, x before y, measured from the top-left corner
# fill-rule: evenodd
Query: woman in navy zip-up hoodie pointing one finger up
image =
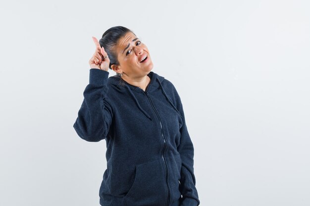
<path id="1" fill-rule="evenodd" d="M 198 206 L 194 148 L 180 96 L 152 72 L 147 46 L 117 26 L 93 37 L 90 78 L 73 127 L 106 141 L 102 206 Z M 108 78 L 108 69 L 117 75 Z"/>

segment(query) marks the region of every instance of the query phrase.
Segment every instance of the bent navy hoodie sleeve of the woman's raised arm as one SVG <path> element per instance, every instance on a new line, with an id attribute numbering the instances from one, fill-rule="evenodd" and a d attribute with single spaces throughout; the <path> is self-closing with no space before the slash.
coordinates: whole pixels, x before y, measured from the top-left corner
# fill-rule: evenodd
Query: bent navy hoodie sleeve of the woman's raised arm
<path id="1" fill-rule="evenodd" d="M 89 142 L 104 139 L 112 122 L 112 109 L 105 101 L 108 74 L 100 69 L 90 69 L 89 84 L 83 92 L 84 100 L 73 124 L 76 133 Z"/>

